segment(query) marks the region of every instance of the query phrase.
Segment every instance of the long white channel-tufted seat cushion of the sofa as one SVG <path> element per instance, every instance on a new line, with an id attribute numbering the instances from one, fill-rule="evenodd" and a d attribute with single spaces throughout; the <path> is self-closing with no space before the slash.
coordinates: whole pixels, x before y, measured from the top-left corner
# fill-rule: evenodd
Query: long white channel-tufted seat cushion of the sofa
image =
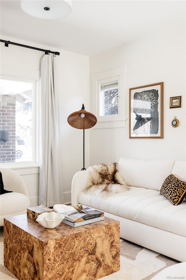
<path id="1" fill-rule="evenodd" d="M 78 203 L 186 236 L 186 201 L 175 207 L 157 190 L 131 186 L 107 198 L 81 192 Z"/>

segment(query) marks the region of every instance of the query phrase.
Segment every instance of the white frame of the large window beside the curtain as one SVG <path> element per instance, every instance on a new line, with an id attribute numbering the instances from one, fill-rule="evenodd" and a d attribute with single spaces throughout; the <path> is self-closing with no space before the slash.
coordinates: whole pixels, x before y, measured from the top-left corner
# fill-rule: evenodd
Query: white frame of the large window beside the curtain
<path id="1" fill-rule="evenodd" d="M 32 76 L 32 75 L 31 75 Z M 39 166 L 39 77 L 25 77 L 17 76 L 12 74 L 0 74 L 0 78 L 3 80 L 10 81 L 21 81 L 32 83 L 32 161 L 23 162 L 1 162 L 1 167 L 3 168 L 29 168 Z"/>

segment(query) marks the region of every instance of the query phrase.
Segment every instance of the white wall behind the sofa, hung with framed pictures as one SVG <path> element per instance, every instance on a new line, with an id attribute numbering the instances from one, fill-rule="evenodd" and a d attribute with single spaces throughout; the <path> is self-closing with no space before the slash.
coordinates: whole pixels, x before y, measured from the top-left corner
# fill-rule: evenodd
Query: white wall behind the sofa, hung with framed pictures
<path id="1" fill-rule="evenodd" d="M 119 157 L 186 159 L 185 24 L 90 57 L 91 75 L 126 66 L 126 127 L 90 130 L 90 165 Z M 164 82 L 163 139 L 129 139 L 129 88 Z M 90 85 L 92 89 L 92 85 Z M 94 94 L 94 93 L 92 93 Z M 182 108 L 169 108 L 182 95 Z M 171 126 L 177 116 L 180 125 Z"/>

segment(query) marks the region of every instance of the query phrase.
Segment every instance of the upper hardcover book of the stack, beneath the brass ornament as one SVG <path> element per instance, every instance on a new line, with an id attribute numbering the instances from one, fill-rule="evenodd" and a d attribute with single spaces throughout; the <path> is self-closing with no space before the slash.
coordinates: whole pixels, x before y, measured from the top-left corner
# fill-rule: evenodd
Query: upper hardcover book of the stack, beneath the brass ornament
<path id="1" fill-rule="evenodd" d="M 76 211 L 76 209 L 74 209 L 74 210 Z M 94 219 L 94 218 L 104 216 L 104 212 L 99 211 L 99 210 L 94 210 L 94 209 L 89 208 L 89 207 L 83 208 L 83 210 L 87 211 L 88 214 L 85 214 L 83 212 L 74 213 L 75 211 L 71 210 L 71 211 L 63 213 L 63 215 L 65 216 L 64 219 L 68 220 L 72 223 L 78 223 L 78 222 L 82 222 L 82 221 L 85 221 L 85 220 L 90 220 L 90 219 Z"/>

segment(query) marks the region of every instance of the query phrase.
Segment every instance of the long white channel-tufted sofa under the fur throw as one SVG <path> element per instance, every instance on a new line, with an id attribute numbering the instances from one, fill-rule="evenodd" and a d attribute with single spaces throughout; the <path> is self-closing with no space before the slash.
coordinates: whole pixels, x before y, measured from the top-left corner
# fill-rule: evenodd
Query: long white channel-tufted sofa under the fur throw
<path id="1" fill-rule="evenodd" d="M 120 158 L 118 170 L 130 190 L 100 198 L 84 192 L 89 170 L 77 172 L 72 180 L 71 204 L 91 206 L 120 221 L 120 237 L 166 255 L 186 261 L 186 201 L 174 206 L 160 195 L 170 174 L 186 181 L 186 162 Z"/>

